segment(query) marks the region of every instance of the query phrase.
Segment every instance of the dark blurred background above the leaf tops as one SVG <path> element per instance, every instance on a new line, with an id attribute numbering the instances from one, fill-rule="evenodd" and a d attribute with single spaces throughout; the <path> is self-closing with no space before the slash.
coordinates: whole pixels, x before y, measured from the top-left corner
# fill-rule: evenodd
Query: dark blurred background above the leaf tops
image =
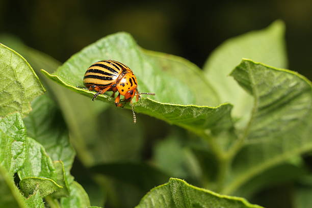
<path id="1" fill-rule="evenodd" d="M 289 69 L 312 79 L 312 2 L 0 1 L 0 33 L 64 62 L 106 35 L 126 31 L 146 49 L 199 67 L 226 39 L 285 22 Z M 255 60 L 256 61 L 256 60 Z"/>

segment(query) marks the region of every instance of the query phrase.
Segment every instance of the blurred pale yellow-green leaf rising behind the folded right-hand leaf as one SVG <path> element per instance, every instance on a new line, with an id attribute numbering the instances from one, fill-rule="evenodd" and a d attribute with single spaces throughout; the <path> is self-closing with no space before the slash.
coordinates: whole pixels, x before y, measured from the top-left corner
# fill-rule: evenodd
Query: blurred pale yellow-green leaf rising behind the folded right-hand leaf
<path id="1" fill-rule="evenodd" d="M 287 67 L 284 44 L 284 24 L 273 22 L 268 28 L 228 39 L 211 54 L 204 65 L 209 82 L 218 89 L 221 102 L 230 102 L 235 108 L 233 116 L 246 123 L 252 97 L 249 96 L 228 74 L 242 58 L 252 59 L 271 66 Z"/>

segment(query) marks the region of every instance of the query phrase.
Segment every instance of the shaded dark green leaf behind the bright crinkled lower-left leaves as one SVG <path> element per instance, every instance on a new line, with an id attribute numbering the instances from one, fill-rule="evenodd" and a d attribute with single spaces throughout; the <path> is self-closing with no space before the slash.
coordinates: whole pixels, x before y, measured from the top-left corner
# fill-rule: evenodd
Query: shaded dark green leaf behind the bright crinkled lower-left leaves
<path id="1" fill-rule="evenodd" d="M 32 108 L 33 111 L 23 119 L 28 136 L 44 147 L 51 160 L 61 160 L 64 163 L 66 177 L 72 180 L 69 171 L 75 152 L 69 142 L 68 131 L 60 110 L 47 95 L 35 98 Z"/>

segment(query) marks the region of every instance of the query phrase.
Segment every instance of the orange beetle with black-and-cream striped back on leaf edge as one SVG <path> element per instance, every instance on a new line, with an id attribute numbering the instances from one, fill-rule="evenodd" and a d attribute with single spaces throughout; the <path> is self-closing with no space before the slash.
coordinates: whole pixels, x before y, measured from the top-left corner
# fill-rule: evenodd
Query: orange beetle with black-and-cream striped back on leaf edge
<path id="1" fill-rule="evenodd" d="M 120 101 L 130 102 L 134 123 L 137 119 L 133 110 L 132 98 L 136 96 L 136 101 L 138 101 L 141 98 L 140 94 L 155 95 L 155 93 L 149 92 L 139 93 L 137 77 L 133 71 L 126 65 L 114 60 L 103 60 L 92 64 L 87 69 L 83 82 L 90 91 L 96 91 L 92 100 L 107 91 L 113 91 L 112 97 L 115 97 L 115 93 L 118 91 L 115 106 L 123 107 Z M 124 99 L 120 99 L 120 95 L 123 95 Z"/>

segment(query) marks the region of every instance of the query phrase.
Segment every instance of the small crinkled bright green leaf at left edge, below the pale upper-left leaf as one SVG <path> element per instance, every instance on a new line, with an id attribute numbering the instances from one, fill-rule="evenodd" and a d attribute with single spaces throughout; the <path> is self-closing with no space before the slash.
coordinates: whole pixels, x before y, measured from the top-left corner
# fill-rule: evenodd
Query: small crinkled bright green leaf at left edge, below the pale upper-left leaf
<path id="1" fill-rule="evenodd" d="M 26 132 L 21 115 L 0 118 L 0 165 L 13 175 L 27 157 Z"/>

